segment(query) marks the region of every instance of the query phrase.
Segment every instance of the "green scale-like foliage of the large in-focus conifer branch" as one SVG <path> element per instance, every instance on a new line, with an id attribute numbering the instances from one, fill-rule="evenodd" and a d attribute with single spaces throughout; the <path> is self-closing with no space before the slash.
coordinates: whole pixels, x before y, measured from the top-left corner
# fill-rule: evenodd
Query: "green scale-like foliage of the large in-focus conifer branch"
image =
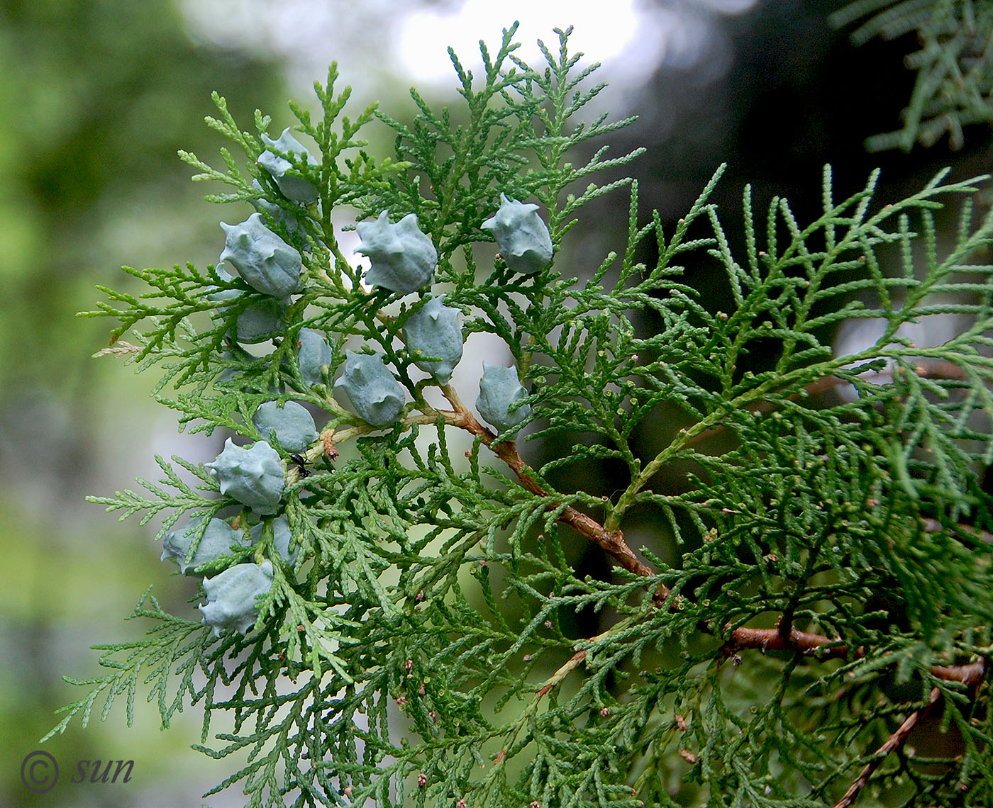
<path id="1" fill-rule="evenodd" d="M 285 333 L 261 355 L 234 342 L 238 314 L 259 298 L 213 267 L 128 270 L 152 290 L 105 290 L 95 314 L 119 321 L 111 352 L 163 374 L 156 395 L 192 431 L 260 440 L 251 416 L 273 397 L 325 414 L 321 440 L 282 457 L 281 512 L 299 552 L 274 564 L 244 635 L 214 636 L 146 593 L 132 616 L 153 621 L 147 635 L 96 646 L 109 672 L 77 682 L 89 695 L 53 732 L 96 704 L 105 717 L 121 694 L 130 720 L 150 686 L 164 726 L 199 704 L 198 748 L 247 752 L 218 789 L 243 789 L 252 806 L 823 805 L 933 692 L 940 713 L 928 715 L 958 745 L 923 761 L 901 750 L 873 787 L 899 786 L 920 804 L 985 804 L 988 690 L 948 673 L 979 664 L 981 674 L 993 642 L 979 484 L 993 460 L 993 267 L 983 263 L 993 217 L 970 204 L 983 178 L 942 173 L 880 204 L 874 175 L 838 202 L 826 169 L 823 211 L 807 223 L 779 198 L 757 211 L 746 190 L 739 254 L 725 229 L 737 217 L 722 222 L 709 201 L 718 171 L 665 233 L 657 213 L 642 217 L 637 183 L 586 185 L 637 153 L 565 162 L 629 122 L 572 120 L 603 85 L 580 86 L 593 67 L 574 72 L 568 32 L 557 52 L 542 46 L 542 69 L 515 58 L 513 32 L 495 55 L 482 48 L 479 79 L 452 55 L 463 109 L 434 111 L 413 92 L 410 124 L 373 107 L 340 118 L 348 90 L 335 95 L 333 67 L 317 85 L 322 120 L 293 107 L 320 150 L 320 199 L 306 208 L 279 195 L 255 164 L 257 134 L 216 98 L 209 122 L 247 168 L 227 152 L 224 171 L 184 159 L 198 179 L 233 189 L 215 201 L 258 199 L 256 180 L 297 216 L 290 231 L 264 215 L 303 256 Z M 395 161 L 356 139 L 375 117 L 396 132 Z M 258 114 L 257 133 L 269 123 Z M 569 231 L 587 202 L 625 188 L 627 244 L 579 280 L 563 265 Z M 557 252 L 534 274 L 492 258 L 481 224 L 501 193 L 546 211 Z M 960 210 L 949 231 L 946 202 Z M 504 440 L 463 406 L 475 389 L 417 374 L 402 342 L 411 299 L 361 286 L 336 236 L 343 206 L 360 218 L 416 213 L 439 254 L 435 290 L 467 335 L 503 340 L 528 392 L 531 414 Z M 645 265 L 649 246 L 657 258 Z M 730 311 L 711 311 L 685 282 L 684 267 L 700 265 L 723 270 Z M 218 288 L 242 293 L 220 315 L 208 298 Z M 958 324 L 947 341 L 905 336 L 947 318 Z M 836 352 L 833 335 L 856 320 L 875 322 L 878 337 Z M 305 327 L 332 345 L 326 384 L 300 374 Z M 129 331 L 134 343 L 118 339 Z M 395 368 L 408 397 L 395 424 L 372 427 L 334 398 L 347 340 Z M 645 455 L 636 439 L 662 417 L 659 448 Z M 528 468 L 512 442 L 525 427 L 527 439 L 575 446 Z M 468 452 L 456 440 L 466 433 Z M 625 475 L 610 498 L 548 482 L 604 461 Z M 161 514 L 163 533 L 184 514 L 237 509 L 204 467 L 159 463 L 165 478 L 140 481 L 145 492 L 94 501 L 122 518 Z M 684 475 L 675 486 L 672 470 Z M 638 556 L 623 535 L 646 511 L 659 535 Z M 613 580 L 575 573 L 590 541 L 617 562 Z M 276 559 L 271 543 L 263 532 L 215 566 Z M 584 609 L 604 630 L 577 640 L 571 618 Z M 780 640 L 798 638 L 748 640 L 774 624 Z"/>

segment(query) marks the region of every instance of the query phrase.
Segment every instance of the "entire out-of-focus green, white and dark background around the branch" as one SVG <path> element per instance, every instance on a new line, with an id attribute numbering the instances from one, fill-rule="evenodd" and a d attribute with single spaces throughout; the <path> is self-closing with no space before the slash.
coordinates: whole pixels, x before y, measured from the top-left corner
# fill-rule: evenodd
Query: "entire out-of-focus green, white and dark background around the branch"
<path id="1" fill-rule="evenodd" d="M 279 132 L 292 122 L 285 99 L 309 103 L 309 80 L 323 78 L 337 58 L 355 84 L 356 106 L 379 98 L 405 117 L 412 81 L 426 83 L 429 94 L 450 94 L 454 81 L 438 78 L 446 37 L 459 38 L 453 44 L 472 64 L 472 43 L 497 42 L 499 28 L 516 17 L 518 38 L 528 43 L 552 39 L 553 25 L 575 24 L 577 47 L 605 62 L 600 78 L 615 86 L 598 103 L 618 116 L 642 116 L 613 148 L 648 146 L 634 170 L 643 209 L 658 207 L 663 219 L 681 215 L 725 160 L 722 207 L 736 209 L 748 181 L 759 207 L 775 189 L 801 214 L 819 204 L 824 162 L 835 164 L 839 197 L 861 187 L 876 165 L 891 195 L 948 163 L 955 176 L 985 170 L 988 133 L 956 154 L 943 145 L 865 154 L 866 136 L 898 125 L 913 84 L 902 61 L 914 43 L 852 49 L 827 24 L 837 5 L 655 0 L 618 2 L 607 16 L 598 4 L 559 2 L 491 8 L 435 0 L 401 11 L 382 0 L 0 1 L 0 805 L 199 805 L 229 773 L 228 763 L 188 747 L 199 739 L 199 710 L 161 733 L 139 693 L 132 729 L 119 704 L 106 723 L 94 713 L 87 730 L 73 722 L 45 744 L 63 769 L 51 792 L 33 794 L 20 778 L 22 759 L 57 721 L 53 711 L 83 693 L 62 675 L 97 675 L 88 646 L 143 630 L 121 617 L 149 584 L 176 613 L 188 613 L 196 593 L 159 562 L 150 526 L 118 524 L 84 496 L 155 477 L 156 453 L 211 459 L 218 436 L 178 435 L 172 413 L 148 396 L 152 375 L 90 358 L 111 324 L 74 314 L 94 308 L 97 284 L 132 288 L 121 264 L 213 262 L 217 222 L 248 212 L 203 202 L 217 189 L 191 184 L 176 157 L 182 148 L 218 162 L 221 140 L 203 125 L 213 112 L 211 90 L 228 98 L 246 128 L 258 107 Z M 616 246 L 626 209 L 627 201 L 608 199 L 590 211 L 568 253 L 575 271 Z M 693 282 L 712 283 L 706 275 Z M 719 292 L 708 291 L 720 306 Z M 525 451 L 533 458 L 560 449 Z M 568 484 L 608 494 L 615 487 L 610 470 L 596 468 Z M 633 545 L 656 527 L 633 528 Z M 582 565 L 608 574 L 594 550 Z M 76 760 L 96 758 L 133 759 L 132 781 L 69 782 Z M 221 794 L 209 802 L 241 799 Z"/>

